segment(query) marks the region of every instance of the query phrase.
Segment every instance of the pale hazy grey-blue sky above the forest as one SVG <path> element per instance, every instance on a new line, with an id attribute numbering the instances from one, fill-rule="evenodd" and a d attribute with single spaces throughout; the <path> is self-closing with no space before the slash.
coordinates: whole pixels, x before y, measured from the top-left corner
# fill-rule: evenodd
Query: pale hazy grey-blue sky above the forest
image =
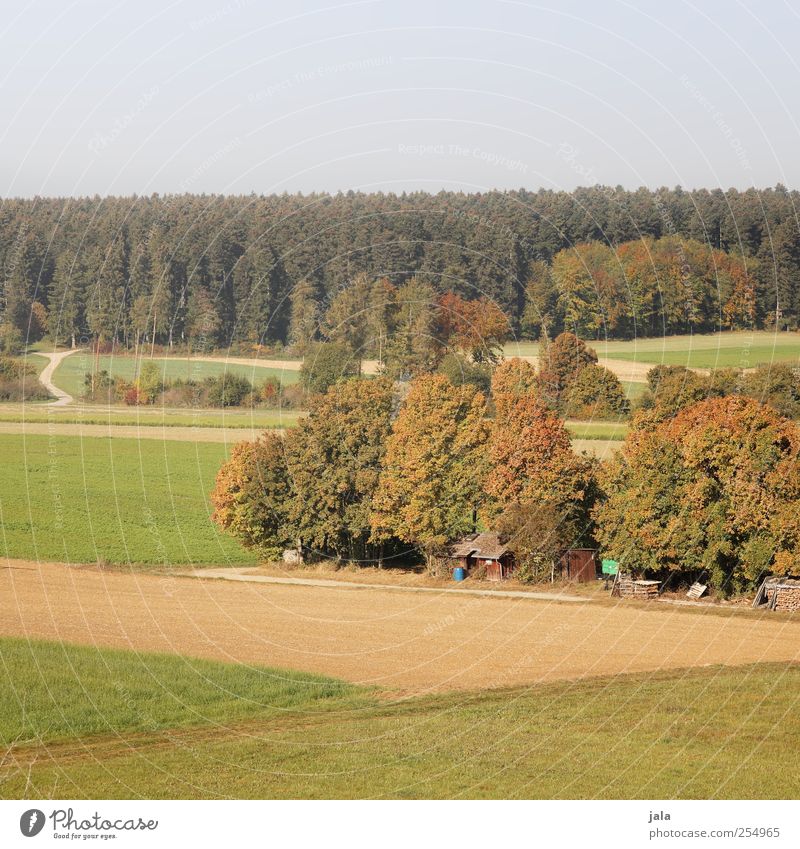
<path id="1" fill-rule="evenodd" d="M 800 187 L 800 4 L 4 0 L 0 194 Z"/>

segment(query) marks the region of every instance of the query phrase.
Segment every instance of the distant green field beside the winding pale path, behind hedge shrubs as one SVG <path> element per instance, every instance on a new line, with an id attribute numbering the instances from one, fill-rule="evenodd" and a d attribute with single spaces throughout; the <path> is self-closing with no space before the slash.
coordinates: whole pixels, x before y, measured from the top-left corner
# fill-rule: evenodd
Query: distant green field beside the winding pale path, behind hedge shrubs
<path id="1" fill-rule="evenodd" d="M 99 370 L 106 370 L 113 377 L 121 377 L 125 380 L 133 380 L 143 362 L 134 357 L 126 356 L 101 356 L 99 358 Z M 261 383 L 268 377 L 277 377 L 283 385 L 297 383 L 300 374 L 297 371 L 289 371 L 276 368 L 265 368 L 259 366 L 237 365 L 225 362 L 201 362 L 198 360 L 185 360 L 178 357 L 156 358 L 153 360 L 162 375 L 168 380 L 203 380 L 206 377 L 216 377 L 221 374 L 237 374 L 246 377 L 251 383 Z M 84 392 L 84 377 L 87 371 L 92 370 L 94 357 L 90 351 L 79 351 L 70 357 L 66 357 L 53 374 L 53 383 L 75 398 L 79 398 Z"/>

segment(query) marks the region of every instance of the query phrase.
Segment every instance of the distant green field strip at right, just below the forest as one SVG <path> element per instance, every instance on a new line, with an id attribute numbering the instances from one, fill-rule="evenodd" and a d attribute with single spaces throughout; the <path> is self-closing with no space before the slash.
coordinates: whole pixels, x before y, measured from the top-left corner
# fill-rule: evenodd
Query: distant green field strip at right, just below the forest
<path id="1" fill-rule="evenodd" d="M 754 368 L 759 363 L 800 363 L 800 333 L 736 331 L 627 342 L 587 340 L 587 344 L 602 358 L 690 368 Z M 505 348 L 507 357 L 537 356 L 538 352 L 537 342 L 514 342 Z"/>

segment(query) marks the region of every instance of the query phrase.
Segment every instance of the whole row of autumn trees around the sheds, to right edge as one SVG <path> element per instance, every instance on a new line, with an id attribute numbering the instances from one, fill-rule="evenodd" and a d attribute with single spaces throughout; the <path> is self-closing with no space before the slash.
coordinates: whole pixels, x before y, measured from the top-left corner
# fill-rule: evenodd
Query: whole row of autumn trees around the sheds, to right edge
<path id="1" fill-rule="evenodd" d="M 493 529 L 529 581 L 575 546 L 724 594 L 797 574 L 800 427 L 764 400 L 800 403 L 791 369 L 703 384 L 657 366 L 621 451 L 599 463 L 573 452 L 560 414 L 592 383 L 593 353 L 562 334 L 538 369 L 499 363 L 488 393 L 443 374 L 341 379 L 297 428 L 234 446 L 214 520 L 265 557 L 383 563 L 415 550 L 435 571 L 456 539 Z"/>

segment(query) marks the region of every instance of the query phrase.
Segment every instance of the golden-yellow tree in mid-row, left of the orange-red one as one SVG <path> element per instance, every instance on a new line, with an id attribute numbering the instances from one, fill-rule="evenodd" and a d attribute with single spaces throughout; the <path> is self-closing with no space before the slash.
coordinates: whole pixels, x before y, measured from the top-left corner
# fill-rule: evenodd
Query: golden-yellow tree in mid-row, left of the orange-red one
<path id="1" fill-rule="evenodd" d="M 482 498 L 488 436 L 486 402 L 474 387 L 443 375 L 411 383 L 392 426 L 371 523 L 375 539 L 392 536 L 435 554 L 474 528 Z"/>

